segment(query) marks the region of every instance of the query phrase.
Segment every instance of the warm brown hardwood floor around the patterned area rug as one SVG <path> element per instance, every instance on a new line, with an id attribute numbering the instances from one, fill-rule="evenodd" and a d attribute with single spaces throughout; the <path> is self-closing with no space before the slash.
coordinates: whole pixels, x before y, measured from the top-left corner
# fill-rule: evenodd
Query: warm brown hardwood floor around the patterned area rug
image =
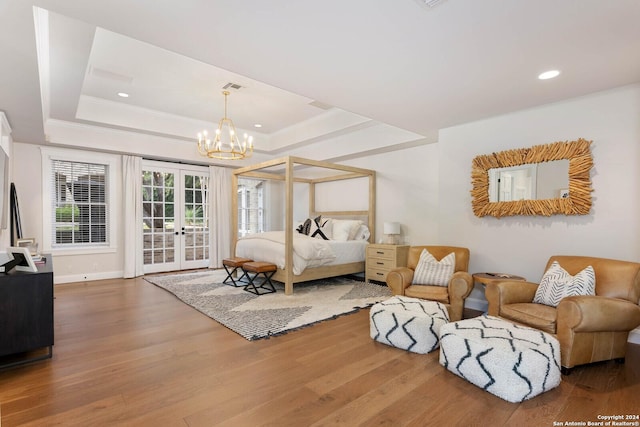
<path id="1" fill-rule="evenodd" d="M 140 278 L 55 295 L 53 359 L 0 371 L 2 427 L 552 426 L 640 412 L 638 346 L 513 404 L 437 351 L 372 341 L 368 310 L 250 342 Z"/>

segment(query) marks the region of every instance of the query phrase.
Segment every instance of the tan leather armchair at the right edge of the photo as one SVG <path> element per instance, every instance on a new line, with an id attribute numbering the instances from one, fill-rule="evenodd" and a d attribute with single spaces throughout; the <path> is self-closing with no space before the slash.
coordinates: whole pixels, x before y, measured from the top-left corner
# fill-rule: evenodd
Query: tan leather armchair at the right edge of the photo
<path id="1" fill-rule="evenodd" d="M 487 285 L 489 314 L 554 334 L 560 341 L 563 371 L 576 365 L 625 356 L 629 331 L 640 325 L 640 263 L 583 256 L 552 256 L 575 275 L 591 265 L 595 296 L 563 298 L 557 307 L 533 303 L 537 283 Z"/>

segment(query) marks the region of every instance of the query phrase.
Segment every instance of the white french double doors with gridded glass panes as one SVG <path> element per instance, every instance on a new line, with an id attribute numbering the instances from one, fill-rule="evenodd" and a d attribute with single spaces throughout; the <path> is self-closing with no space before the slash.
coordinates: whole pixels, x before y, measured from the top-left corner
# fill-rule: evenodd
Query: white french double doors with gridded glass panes
<path id="1" fill-rule="evenodd" d="M 209 170 L 171 163 L 142 164 L 145 273 L 209 265 Z"/>

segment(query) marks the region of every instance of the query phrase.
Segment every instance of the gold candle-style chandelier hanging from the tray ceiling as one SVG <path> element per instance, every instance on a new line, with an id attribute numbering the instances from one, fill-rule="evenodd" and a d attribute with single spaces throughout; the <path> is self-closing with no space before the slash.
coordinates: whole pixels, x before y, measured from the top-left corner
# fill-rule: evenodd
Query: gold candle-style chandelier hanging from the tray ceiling
<path id="1" fill-rule="evenodd" d="M 225 90 L 222 94 L 224 95 L 224 117 L 218 122 L 218 129 L 216 129 L 213 140 L 206 130 L 198 133 L 198 152 L 203 156 L 221 160 L 240 160 L 251 157 L 253 137 L 245 133 L 242 142 L 240 142 L 233 121 L 227 117 L 229 92 Z"/>

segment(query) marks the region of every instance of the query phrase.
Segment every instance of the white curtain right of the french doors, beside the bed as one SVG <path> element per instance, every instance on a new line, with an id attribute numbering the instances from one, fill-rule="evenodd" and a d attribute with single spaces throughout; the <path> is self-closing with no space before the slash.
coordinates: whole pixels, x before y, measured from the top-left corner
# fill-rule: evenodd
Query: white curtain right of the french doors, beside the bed
<path id="1" fill-rule="evenodd" d="M 209 166 L 209 267 L 231 255 L 231 169 Z"/>

